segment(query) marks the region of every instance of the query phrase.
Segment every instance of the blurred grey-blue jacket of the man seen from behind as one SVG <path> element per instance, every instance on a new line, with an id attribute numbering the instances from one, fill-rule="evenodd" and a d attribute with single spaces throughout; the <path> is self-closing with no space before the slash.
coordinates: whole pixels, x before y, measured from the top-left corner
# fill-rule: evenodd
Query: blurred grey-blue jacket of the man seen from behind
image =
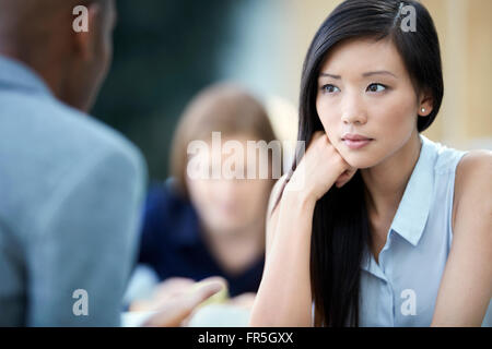
<path id="1" fill-rule="evenodd" d="M 120 134 L 0 56 L 0 326 L 117 326 L 147 179 Z"/>

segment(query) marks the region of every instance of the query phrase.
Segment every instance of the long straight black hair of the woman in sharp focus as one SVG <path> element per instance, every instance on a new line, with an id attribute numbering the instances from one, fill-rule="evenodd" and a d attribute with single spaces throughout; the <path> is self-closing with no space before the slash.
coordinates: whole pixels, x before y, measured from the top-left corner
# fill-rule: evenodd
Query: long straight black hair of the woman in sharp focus
<path id="1" fill-rule="evenodd" d="M 415 11 L 413 32 L 401 28 L 406 17 L 401 10 L 407 5 Z M 324 130 L 316 111 L 316 96 L 320 65 L 327 53 L 342 40 L 367 37 L 390 39 L 415 92 L 432 94 L 433 110 L 425 118 L 417 118 L 418 131 L 424 131 L 434 121 L 444 87 L 437 33 L 427 10 L 417 1 L 347 0 L 325 20 L 307 51 L 301 80 L 298 141 L 309 144 L 314 132 Z M 359 326 L 361 263 L 368 257 L 366 246 L 371 244 L 364 190 L 358 171 L 350 182 L 341 189 L 333 185 L 316 203 L 311 242 L 316 326 Z"/>

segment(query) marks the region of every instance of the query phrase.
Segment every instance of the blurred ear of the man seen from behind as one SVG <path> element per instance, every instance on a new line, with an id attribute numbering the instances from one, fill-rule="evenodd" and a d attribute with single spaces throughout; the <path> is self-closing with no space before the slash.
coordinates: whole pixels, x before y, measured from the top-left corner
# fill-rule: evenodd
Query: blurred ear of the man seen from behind
<path id="1" fill-rule="evenodd" d="M 99 40 L 101 4 L 92 2 L 87 5 L 86 31 L 75 34 L 75 50 L 84 61 L 92 61 L 96 55 L 97 40 Z"/>

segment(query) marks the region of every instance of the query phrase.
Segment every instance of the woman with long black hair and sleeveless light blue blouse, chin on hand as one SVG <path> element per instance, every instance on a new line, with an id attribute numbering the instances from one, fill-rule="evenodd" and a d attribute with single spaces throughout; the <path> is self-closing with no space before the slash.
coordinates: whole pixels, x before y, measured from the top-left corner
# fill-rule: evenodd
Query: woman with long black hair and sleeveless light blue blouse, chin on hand
<path id="1" fill-rule="evenodd" d="M 250 325 L 492 325 L 492 155 L 420 134 L 443 91 L 421 3 L 348 0 L 321 24 Z"/>

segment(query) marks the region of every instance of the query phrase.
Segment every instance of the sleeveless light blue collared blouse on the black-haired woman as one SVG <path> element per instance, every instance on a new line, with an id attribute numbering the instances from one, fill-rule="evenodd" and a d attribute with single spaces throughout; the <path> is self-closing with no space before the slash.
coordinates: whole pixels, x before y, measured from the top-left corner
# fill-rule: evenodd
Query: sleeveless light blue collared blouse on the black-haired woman
<path id="1" fill-rule="evenodd" d="M 420 139 L 420 156 L 379 263 L 371 253 L 362 264 L 361 326 L 429 326 L 432 322 L 453 241 L 455 171 L 466 152 Z M 492 302 L 482 326 L 492 326 Z"/>

